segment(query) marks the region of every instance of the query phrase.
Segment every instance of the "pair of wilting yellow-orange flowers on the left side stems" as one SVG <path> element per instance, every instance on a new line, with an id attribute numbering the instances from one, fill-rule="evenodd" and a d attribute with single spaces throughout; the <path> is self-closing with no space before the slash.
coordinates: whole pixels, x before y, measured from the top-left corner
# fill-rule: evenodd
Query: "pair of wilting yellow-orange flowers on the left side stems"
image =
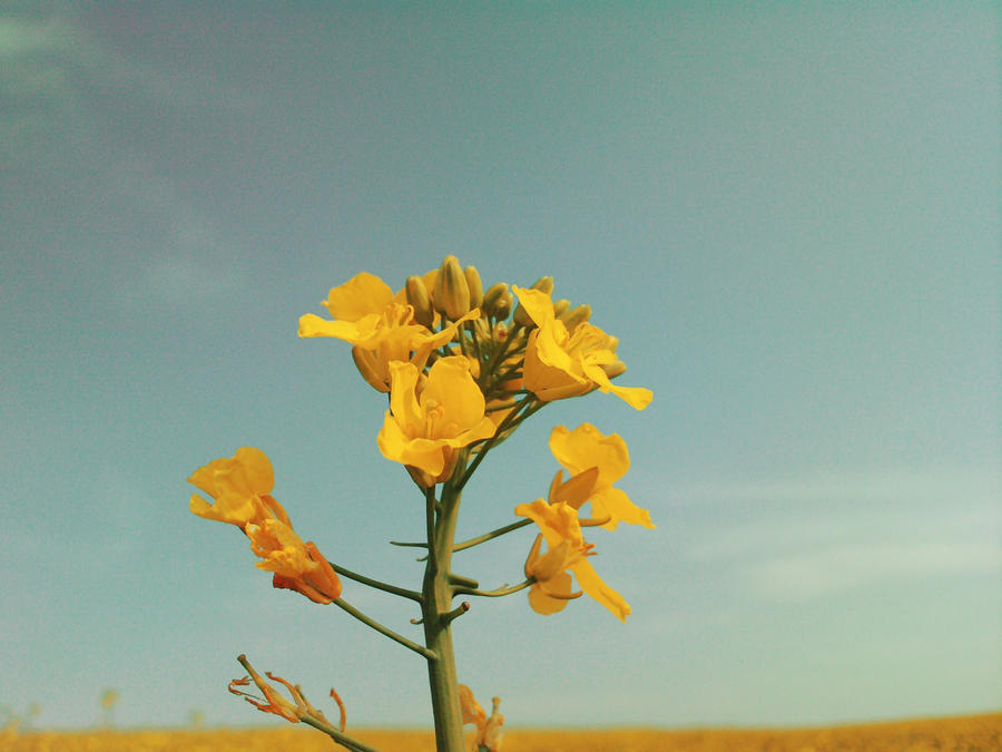
<path id="1" fill-rule="evenodd" d="M 341 596 L 341 580 L 327 559 L 313 543 L 303 543 L 285 509 L 271 496 L 275 476 L 261 449 L 240 447 L 234 457 L 198 468 L 188 482 L 215 499 L 209 505 L 191 495 L 191 512 L 239 527 L 250 539 L 252 550 L 264 559 L 257 567 L 274 573 L 273 587 L 297 590 L 315 603 Z"/>

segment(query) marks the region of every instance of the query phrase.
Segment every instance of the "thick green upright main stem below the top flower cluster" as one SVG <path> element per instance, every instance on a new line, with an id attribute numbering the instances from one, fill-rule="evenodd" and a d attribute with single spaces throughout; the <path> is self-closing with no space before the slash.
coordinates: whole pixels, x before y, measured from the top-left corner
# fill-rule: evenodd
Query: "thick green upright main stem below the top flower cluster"
<path id="1" fill-rule="evenodd" d="M 460 462 L 453 478 L 462 476 L 464 462 Z M 424 568 L 422 588 L 422 615 L 424 617 L 424 644 L 433 651 L 428 660 L 432 711 L 435 716 L 435 743 L 438 752 L 463 752 L 463 714 L 459 702 L 459 683 L 455 676 L 455 656 L 452 651 L 452 598 L 455 586 L 449 572 L 452 559 L 452 540 L 455 518 L 459 514 L 461 491 L 451 484 L 442 486 L 438 502 L 429 497 L 429 557 Z"/>

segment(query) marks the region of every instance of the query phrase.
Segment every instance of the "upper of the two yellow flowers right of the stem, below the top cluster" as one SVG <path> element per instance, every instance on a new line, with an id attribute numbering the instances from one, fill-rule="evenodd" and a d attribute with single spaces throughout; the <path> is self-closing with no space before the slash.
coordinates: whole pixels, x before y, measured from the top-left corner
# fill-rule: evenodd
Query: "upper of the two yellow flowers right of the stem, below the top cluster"
<path id="1" fill-rule="evenodd" d="M 647 509 L 635 505 L 620 489 L 612 488 L 612 484 L 630 468 L 626 441 L 618 433 L 605 436 L 590 423 L 581 423 L 573 431 L 558 426 L 550 432 L 550 451 L 572 476 L 598 468 L 598 478 L 588 499 L 592 517 L 609 518 L 603 527 L 615 530 L 619 523 L 655 527 Z"/>

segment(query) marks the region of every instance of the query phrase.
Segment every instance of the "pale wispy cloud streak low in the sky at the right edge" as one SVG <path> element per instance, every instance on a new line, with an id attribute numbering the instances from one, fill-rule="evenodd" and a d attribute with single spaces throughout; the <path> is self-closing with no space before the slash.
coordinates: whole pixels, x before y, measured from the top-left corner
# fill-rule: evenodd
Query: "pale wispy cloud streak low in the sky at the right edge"
<path id="1" fill-rule="evenodd" d="M 690 494 L 719 514 L 688 555 L 726 563 L 743 592 L 768 599 L 891 580 L 1002 575 L 1002 482 L 995 472 L 902 470 L 707 486 Z M 728 518 L 737 521 L 719 521 Z"/>

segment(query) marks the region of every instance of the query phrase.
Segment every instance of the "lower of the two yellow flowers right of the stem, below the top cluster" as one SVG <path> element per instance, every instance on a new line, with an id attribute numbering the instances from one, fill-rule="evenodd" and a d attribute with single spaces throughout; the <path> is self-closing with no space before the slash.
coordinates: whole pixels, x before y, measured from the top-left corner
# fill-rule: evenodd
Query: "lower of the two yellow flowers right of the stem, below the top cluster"
<path id="1" fill-rule="evenodd" d="M 515 507 L 515 514 L 528 517 L 539 525 L 550 547 L 550 554 L 554 550 L 561 551 L 564 566 L 574 574 L 581 589 L 612 612 L 619 621 L 626 622 L 630 613 L 629 604 L 602 582 L 586 558 L 592 555 L 592 546 L 587 544 L 581 535 L 577 509 L 567 501 L 550 505 L 543 499 L 537 499 L 532 504 L 520 504 Z M 560 548 L 562 545 L 566 546 L 563 549 Z M 562 593 L 563 588 L 558 592 Z"/>

